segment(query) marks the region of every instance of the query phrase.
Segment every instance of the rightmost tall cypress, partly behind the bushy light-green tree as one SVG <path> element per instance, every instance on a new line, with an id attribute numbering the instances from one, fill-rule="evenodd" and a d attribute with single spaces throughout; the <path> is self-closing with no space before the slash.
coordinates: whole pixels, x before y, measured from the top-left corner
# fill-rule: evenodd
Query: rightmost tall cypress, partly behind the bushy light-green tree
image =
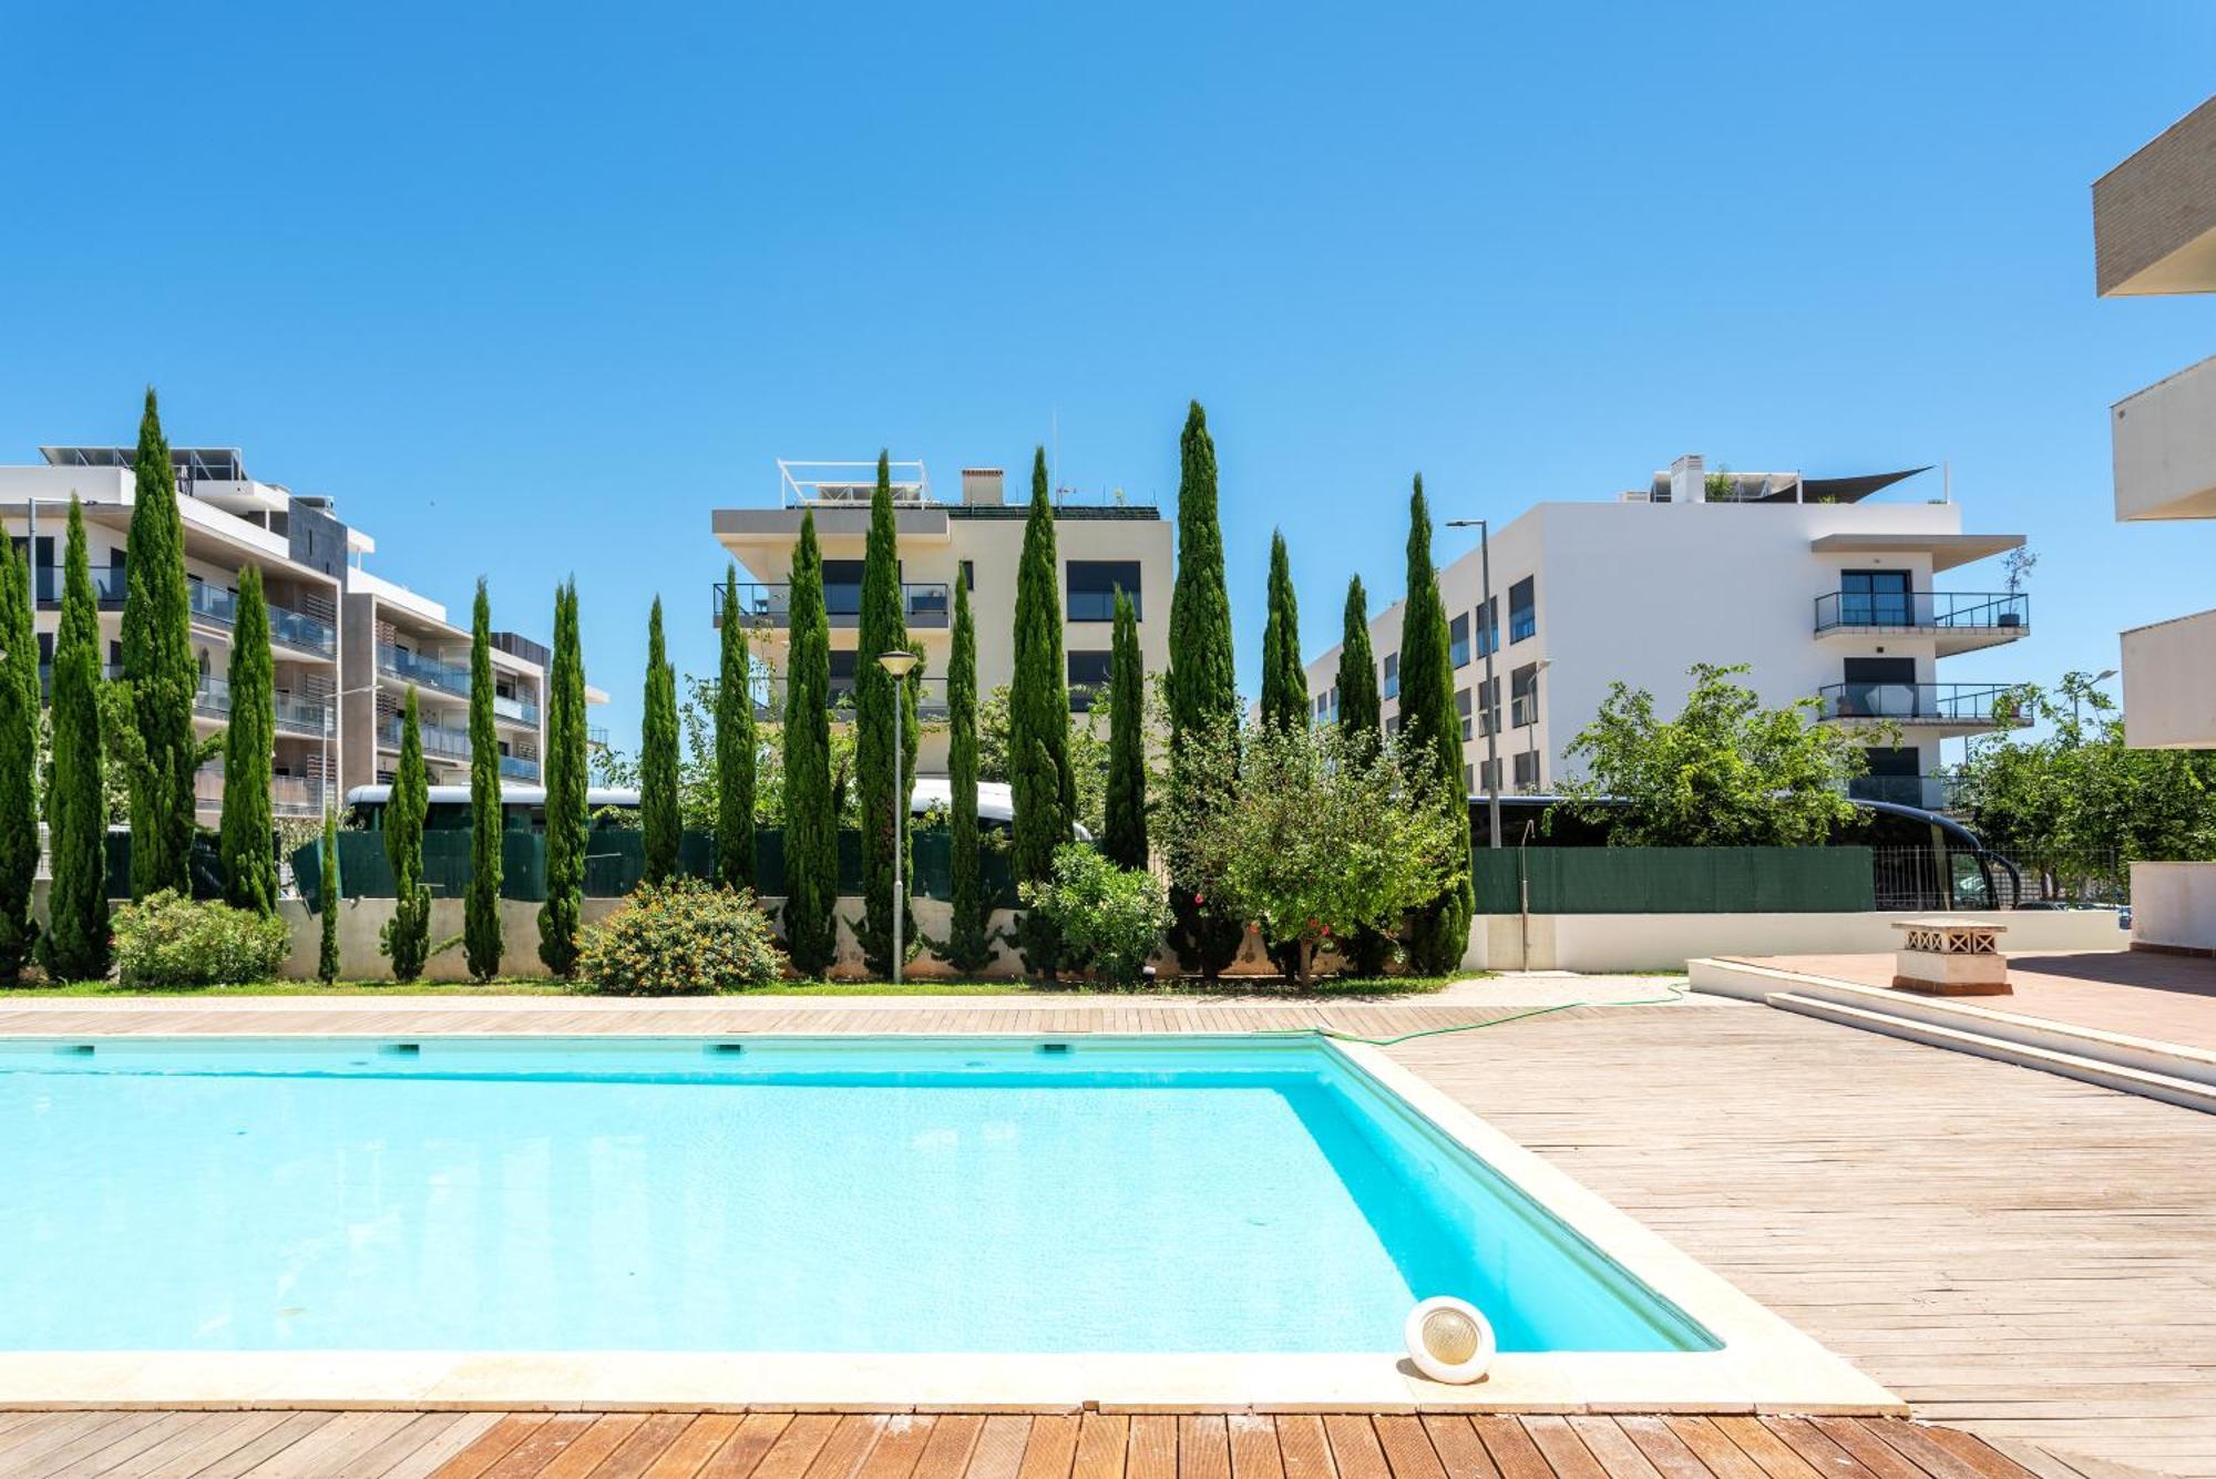
<path id="1" fill-rule="evenodd" d="M 1423 474 L 1407 500 L 1407 607 L 1401 616 L 1401 744 L 1409 768 L 1429 773 L 1440 804 L 1465 813 L 1463 724 L 1454 713 L 1454 658 L 1447 651 L 1447 607 L 1438 598 L 1432 567 L 1432 507 L 1423 498 Z M 1454 970 L 1469 950 L 1469 917 L 1476 886 L 1469 877 L 1469 819 L 1456 828 L 1460 841 L 1456 881 L 1409 919 L 1409 963 L 1425 974 Z"/>

